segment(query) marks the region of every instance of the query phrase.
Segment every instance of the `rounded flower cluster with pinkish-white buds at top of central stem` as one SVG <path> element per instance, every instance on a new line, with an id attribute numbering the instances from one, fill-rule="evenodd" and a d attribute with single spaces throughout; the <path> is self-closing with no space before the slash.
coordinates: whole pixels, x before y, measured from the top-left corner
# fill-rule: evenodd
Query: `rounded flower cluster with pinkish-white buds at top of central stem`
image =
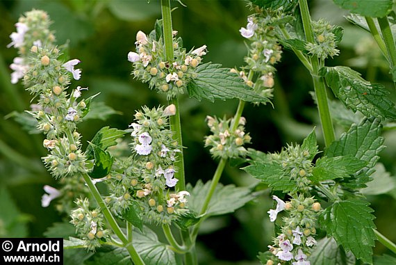
<path id="1" fill-rule="evenodd" d="M 173 32 L 176 35 L 177 31 Z M 174 61 L 165 59 L 163 40 L 156 40 L 154 34 L 147 36 L 142 31 L 136 35 L 136 51 L 130 51 L 128 61 L 133 63 L 133 75 L 149 87 L 165 93 L 170 99 L 184 93 L 187 84 L 196 77 L 196 67 L 201 56 L 207 53 L 206 45 L 186 53 L 181 48 L 181 38 L 173 38 Z"/>

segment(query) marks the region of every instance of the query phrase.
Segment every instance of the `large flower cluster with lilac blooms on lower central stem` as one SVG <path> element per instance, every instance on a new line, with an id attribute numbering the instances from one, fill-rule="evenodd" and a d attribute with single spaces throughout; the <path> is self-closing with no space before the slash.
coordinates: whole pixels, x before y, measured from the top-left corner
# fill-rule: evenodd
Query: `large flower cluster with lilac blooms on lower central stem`
<path id="1" fill-rule="evenodd" d="M 176 155 L 181 152 L 173 140 L 172 131 L 167 129 L 168 116 L 176 113 L 172 104 L 135 113 L 135 122 L 130 127 L 135 156 L 117 159 L 114 171 L 107 177 L 110 196 L 106 202 L 118 216 L 138 202 L 142 216 L 147 222 L 159 225 L 170 224 L 188 211 L 185 203 L 187 191 L 170 193 L 176 186 Z"/>

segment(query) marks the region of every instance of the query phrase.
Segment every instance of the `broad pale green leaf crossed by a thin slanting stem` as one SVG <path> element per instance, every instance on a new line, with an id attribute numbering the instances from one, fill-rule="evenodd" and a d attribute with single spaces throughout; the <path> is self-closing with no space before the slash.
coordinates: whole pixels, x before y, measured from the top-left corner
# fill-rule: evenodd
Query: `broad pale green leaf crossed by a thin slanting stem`
<path id="1" fill-rule="evenodd" d="M 208 194 L 210 186 L 211 181 L 204 184 L 201 180 L 199 180 L 194 187 L 190 184 L 187 185 L 186 189 L 190 192 L 190 197 L 188 198 L 188 207 L 190 210 L 197 213 L 201 211 L 204 198 L 206 194 Z M 250 188 L 217 184 L 211 203 L 206 211 L 206 216 L 218 216 L 232 213 L 254 198 L 255 196 L 252 194 Z"/>

